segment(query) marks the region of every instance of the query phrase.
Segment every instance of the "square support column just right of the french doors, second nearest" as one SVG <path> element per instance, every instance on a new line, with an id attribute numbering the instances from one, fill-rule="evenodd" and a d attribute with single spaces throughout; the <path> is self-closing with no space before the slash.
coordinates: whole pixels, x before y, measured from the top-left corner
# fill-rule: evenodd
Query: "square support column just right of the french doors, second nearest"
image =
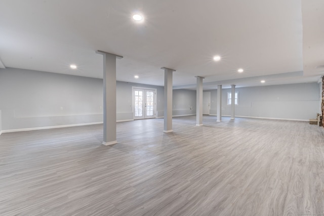
<path id="1" fill-rule="evenodd" d="M 172 130 L 172 75 L 174 69 L 161 67 L 164 69 L 164 130 L 163 132 L 169 133 Z"/>

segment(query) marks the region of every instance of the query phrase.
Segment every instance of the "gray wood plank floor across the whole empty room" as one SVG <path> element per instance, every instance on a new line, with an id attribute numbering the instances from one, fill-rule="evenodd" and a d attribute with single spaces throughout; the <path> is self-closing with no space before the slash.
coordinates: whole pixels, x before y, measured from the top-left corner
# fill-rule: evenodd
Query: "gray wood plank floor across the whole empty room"
<path id="1" fill-rule="evenodd" d="M 324 213 L 324 130 L 307 122 L 204 116 L 0 136 L 0 215 Z"/>

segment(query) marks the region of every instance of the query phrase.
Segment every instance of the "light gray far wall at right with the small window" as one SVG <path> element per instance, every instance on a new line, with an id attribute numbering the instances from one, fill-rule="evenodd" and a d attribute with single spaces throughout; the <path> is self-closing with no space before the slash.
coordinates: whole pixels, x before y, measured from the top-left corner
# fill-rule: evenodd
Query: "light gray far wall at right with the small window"
<path id="1" fill-rule="evenodd" d="M 235 116 L 309 120 L 316 118 L 319 106 L 319 84 L 302 83 L 236 88 L 238 105 Z M 230 115 L 227 92 L 222 90 L 222 115 Z M 217 115 L 217 90 L 211 90 L 211 115 Z"/>

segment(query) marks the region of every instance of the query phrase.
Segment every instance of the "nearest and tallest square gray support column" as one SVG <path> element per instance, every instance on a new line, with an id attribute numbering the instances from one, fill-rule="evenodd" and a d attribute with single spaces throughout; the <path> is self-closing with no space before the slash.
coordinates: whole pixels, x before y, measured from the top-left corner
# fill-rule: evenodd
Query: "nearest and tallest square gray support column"
<path id="1" fill-rule="evenodd" d="M 117 143 L 116 139 L 116 58 L 123 58 L 98 50 L 103 55 L 103 142 L 105 146 Z"/>

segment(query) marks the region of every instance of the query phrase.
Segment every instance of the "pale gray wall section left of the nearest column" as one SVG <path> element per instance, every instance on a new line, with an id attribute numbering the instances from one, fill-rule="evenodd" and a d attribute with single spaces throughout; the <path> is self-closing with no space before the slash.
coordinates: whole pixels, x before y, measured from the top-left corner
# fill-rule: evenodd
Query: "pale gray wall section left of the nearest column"
<path id="1" fill-rule="evenodd" d="M 0 69 L 2 129 L 102 122 L 102 86 L 100 79 Z"/>

